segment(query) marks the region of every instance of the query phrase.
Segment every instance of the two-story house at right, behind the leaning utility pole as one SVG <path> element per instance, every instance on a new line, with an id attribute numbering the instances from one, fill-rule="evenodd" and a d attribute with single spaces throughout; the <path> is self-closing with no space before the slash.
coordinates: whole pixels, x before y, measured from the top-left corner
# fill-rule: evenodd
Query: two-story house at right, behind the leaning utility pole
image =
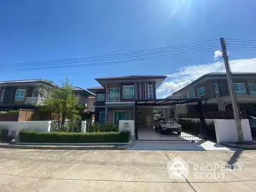
<path id="1" fill-rule="evenodd" d="M 256 73 L 233 72 L 232 80 L 243 115 L 256 115 Z M 205 112 L 232 111 L 227 75 L 223 72 L 205 74 L 173 95 L 180 95 L 181 98 L 207 98 Z M 195 105 L 177 106 L 177 113 L 193 115 L 196 113 Z"/>

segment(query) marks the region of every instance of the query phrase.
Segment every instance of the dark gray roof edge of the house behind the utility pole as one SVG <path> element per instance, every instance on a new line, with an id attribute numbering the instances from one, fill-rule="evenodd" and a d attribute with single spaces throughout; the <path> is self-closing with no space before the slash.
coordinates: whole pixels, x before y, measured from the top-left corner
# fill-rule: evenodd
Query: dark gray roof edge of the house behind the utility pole
<path id="1" fill-rule="evenodd" d="M 184 88 L 181 88 L 177 92 L 172 93 L 172 95 L 177 94 L 178 92 L 188 88 L 188 86 L 191 86 L 192 84 L 195 84 L 198 81 L 202 81 L 206 77 L 225 77 L 225 76 L 227 76 L 227 74 L 225 72 L 211 72 L 209 74 L 205 74 L 204 76 L 201 76 L 198 79 L 196 79 L 195 81 L 189 83 L 187 86 L 184 86 Z M 234 77 L 239 77 L 239 76 L 252 77 L 252 76 L 256 76 L 256 72 L 232 72 L 232 76 L 234 76 Z"/>

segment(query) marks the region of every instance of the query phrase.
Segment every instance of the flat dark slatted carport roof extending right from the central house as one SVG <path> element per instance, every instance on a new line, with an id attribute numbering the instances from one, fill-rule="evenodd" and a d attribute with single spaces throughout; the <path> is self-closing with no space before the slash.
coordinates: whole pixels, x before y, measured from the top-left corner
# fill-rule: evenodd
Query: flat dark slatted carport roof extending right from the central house
<path id="1" fill-rule="evenodd" d="M 137 106 L 171 106 L 175 104 L 186 104 L 189 102 L 198 102 L 207 100 L 205 98 L 191 98 L 191 99 L 137 99 Z"/>

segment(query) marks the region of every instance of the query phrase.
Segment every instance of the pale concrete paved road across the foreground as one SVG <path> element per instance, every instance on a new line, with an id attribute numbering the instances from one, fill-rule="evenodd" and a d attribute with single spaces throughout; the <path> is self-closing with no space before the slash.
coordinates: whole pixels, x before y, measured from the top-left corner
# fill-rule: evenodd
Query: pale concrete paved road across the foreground
<path id="1" fill-rule="evenodd" d="M 170 179 L 182 157 L 189 173 Z M 222 179 L 195 177 L 195 166 L 237 163 Z M 206 167 L 206 166 L 205 166 Z M 179 170 L 178 170 L 179 171 Z M 220 170 L 219 170 L 220 171 Z M 206 171 L 205 171 L 206 172 Z M 256 191 L 255 151 L 23 150 L 0 148 L 0 191 Z M 198 175 L 197 175 L 198 176 Z"/>

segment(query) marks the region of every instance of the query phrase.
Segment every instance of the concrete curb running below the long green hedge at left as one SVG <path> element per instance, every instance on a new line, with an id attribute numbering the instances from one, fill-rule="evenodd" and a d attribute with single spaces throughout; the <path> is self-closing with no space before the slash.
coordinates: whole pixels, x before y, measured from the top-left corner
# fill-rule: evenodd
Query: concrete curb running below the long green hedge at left
<path id="1" fill-rule="evenodd" d="M 123 150 L 133 147 L 134 141 L 127 145 L 17 145 L 0 143 L 0 148 L 46 149 L 46 150 Z"/>

